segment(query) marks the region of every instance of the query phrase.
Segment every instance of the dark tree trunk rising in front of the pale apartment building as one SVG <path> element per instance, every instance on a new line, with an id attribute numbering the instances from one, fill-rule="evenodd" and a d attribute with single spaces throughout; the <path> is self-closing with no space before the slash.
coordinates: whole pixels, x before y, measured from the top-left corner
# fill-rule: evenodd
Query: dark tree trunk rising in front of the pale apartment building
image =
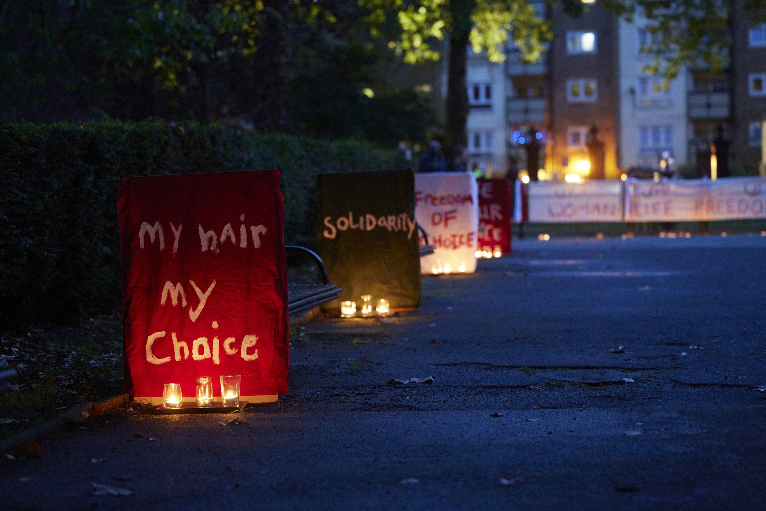
<path id="1" fill-rule="evenodd" d="M 450 33 L 450 61 L 447 71 L 447 143 L 450 153 L 455 146 L 466 146 L 466 120 L 468 119 L 468 91 L 466 89 L 466 61 L 468 36 L 471 33 L 471 12 L 475 0 L 450 0 L 452 32 Z"/>

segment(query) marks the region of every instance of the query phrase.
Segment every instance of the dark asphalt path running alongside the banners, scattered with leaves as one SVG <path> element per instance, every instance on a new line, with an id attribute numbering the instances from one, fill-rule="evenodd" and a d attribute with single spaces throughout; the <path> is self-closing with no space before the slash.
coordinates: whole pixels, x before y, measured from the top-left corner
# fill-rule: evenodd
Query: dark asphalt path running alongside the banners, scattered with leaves
<path id="1" fill-rule="evenodd" d="M 415 313 L 306 323 L 246 424 L 115 414 L 0 460 L 0 509 L 764 509 L 764 262 L 758 235 L 519 241 Z"/>

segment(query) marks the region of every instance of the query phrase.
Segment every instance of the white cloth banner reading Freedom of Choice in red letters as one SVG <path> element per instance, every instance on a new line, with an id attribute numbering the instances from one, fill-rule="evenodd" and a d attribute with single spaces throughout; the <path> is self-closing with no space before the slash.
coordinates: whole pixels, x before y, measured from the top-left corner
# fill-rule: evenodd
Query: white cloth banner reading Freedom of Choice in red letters
<path id="1" fill-rule="evenodd" d="M 434 245 L 434 254 L 421 257 L 421 274 L 476 270 L 479 188 L 473 173 L 416 173 L 415 218 Z"/>

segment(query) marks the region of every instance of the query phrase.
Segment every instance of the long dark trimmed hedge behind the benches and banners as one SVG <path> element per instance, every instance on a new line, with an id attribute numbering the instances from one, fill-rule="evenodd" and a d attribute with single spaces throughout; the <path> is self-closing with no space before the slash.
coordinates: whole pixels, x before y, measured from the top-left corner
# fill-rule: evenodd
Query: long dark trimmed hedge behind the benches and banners
<path id="1" fill-rule="evenodd" d="M 158 122 L 0 124 L 0 329 L 115 310 L 126 177 L 280 169 L 286 242 L 310 243 L 319 172 L 404 166 L 358 140 Z"/>

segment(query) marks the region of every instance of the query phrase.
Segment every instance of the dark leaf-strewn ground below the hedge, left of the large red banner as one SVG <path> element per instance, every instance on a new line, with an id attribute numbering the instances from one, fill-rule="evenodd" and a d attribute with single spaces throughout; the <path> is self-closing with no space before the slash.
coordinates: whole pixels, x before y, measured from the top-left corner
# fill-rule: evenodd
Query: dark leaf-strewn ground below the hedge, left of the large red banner
<path id="1" fill-rule="evenodd" d="M 0 395 L 0 418 L 15 419 L 0 424 L 0 439 L 123 388 L 122 326 L 114 317 L 2 336 L 0 357 L 18 371 L 14 390 Z"/>

